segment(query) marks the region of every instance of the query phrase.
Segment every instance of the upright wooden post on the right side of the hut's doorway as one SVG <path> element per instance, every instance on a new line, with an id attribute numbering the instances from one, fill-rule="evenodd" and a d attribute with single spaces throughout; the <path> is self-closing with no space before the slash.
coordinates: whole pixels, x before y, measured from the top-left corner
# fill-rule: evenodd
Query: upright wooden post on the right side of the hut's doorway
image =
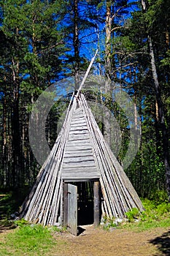
<path id="1" fill-rule="evenodd" d="M 99 181 L 94 181 L 93 185 L 94 192 L 94 226 L 99 225 L 99 214 L 100 214 L 100 197 L 99 197 Z"/>

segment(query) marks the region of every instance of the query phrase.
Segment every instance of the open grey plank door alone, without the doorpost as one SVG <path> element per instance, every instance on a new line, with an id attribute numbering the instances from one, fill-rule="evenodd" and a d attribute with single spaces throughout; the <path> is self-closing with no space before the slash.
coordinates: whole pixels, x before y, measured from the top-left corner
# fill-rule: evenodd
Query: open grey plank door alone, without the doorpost
<path id="1" fill-rule="evenodd" d="M 68 219 L 67 226 L 70 233 L 77 236 L 77 186 L 68 184 Z"/>

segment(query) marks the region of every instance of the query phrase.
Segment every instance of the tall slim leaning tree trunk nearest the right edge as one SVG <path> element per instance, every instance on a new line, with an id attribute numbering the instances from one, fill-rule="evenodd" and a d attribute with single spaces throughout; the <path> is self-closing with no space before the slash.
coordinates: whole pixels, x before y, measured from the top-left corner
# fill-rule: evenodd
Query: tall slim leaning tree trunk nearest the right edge
<path id="1" fill-rule="evenodd" d="M 146 1 L 142 0 L 142 9 L 144 12 L 147 11 L 147 5 Z M 158 122 L 161 129 L 161 134 L 163 138 L 163 158 L 164 158 L 164 165 L 166 170 L 166 189 L 169 195 L 170 200 L 170 164 L 169 164 L 169 139 L 167 136 L 167 129 L 165 124 L 165 118 L 164 118 L 164 109 L 163 109 L 163 102 L 161 99 L 161 88 L 158 81 L 158 72 L 156 69 L 155 64 L 155 54 L 152 47 L 152 38 L 150 34 L 147 35 L 148 43 L 149 43 L 149 49 L 150 49 L 150 61 L 151 61 L 151 67 L 152 67 L 152 78 L 154 82 L 154 89 L 155 89 L 155 96 L 156 101 L 158 103 Z"/>

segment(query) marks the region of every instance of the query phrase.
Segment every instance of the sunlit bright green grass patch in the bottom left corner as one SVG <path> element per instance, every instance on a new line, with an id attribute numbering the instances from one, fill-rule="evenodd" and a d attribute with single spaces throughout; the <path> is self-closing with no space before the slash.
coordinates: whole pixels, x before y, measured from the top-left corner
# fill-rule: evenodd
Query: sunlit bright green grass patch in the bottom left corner
<path id="1" fill-rule="evenodd" d="M 57 244 L 47 227 L 22 225 L 0 242 L 0 255 L 50 255 L 54 247 L 57 250 Z"/>

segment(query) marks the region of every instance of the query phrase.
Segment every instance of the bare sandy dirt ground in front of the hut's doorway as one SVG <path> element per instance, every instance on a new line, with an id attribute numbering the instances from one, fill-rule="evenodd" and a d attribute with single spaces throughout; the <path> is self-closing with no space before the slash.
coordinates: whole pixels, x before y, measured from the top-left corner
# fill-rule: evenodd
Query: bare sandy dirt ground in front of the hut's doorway
<path id="1" fill-rule="evenodd" d="M 59 252 L 52 255 L 62 256 L 168 256 L 170 255 L 170 228 L 156 228 L 142 233 L 129 230 L 107 232 L 83 226 L 80 236 L 63 234 L 58 241 L 66 246 L 58 246 Z"/>

